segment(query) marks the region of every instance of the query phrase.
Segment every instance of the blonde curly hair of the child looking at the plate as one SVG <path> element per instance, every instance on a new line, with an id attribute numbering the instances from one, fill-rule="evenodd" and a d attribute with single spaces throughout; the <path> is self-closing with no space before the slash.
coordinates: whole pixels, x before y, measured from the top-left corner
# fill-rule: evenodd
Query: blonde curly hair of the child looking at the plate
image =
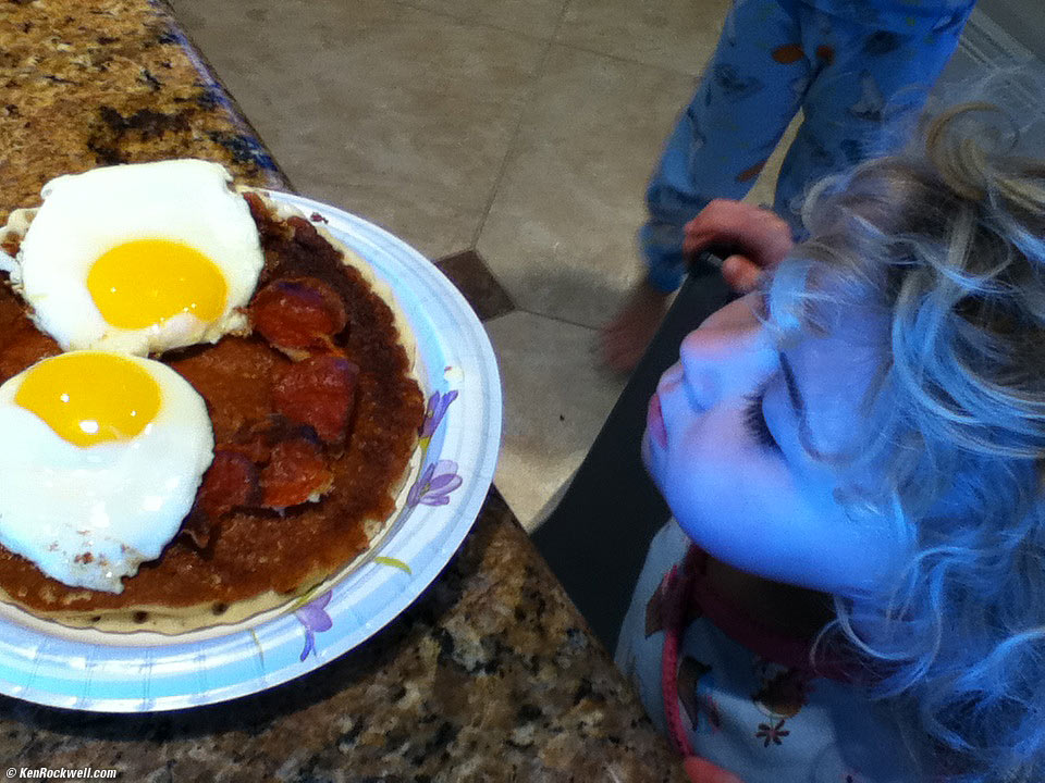
<path id="1" fill-rule="evenodd" d="M 810 238 L 766 283 L 782 340 L 853 308 L 889 325 L 848 476 L 905 567 L 837 598 L 926 776 L 1045 780 L 1045 162 L 969 103 L 921 149 L 821 183 Z M 807 448 L 814 451 L 811 444 Z"/>

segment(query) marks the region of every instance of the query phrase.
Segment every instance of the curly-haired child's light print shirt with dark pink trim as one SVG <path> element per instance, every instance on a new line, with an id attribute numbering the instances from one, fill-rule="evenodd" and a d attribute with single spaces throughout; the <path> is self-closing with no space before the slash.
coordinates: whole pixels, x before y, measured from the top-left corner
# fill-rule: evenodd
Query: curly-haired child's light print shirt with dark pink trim
<path id="1" fill-rule="evenodd" d="M 745 783 L 918 780 L 885 708 L 844 666 L 811 670 L 808 642 L 734 613 L 728 596 L 701 585 L 701 556 L 674 521 L 657 533 L 616 652 L 679 753 Z"/>

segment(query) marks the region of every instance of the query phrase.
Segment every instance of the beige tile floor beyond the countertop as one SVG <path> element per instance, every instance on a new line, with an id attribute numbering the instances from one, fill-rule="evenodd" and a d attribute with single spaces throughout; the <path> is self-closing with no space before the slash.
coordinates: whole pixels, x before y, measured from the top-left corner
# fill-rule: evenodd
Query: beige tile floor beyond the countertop
<path id="1" fill-rule="evenodd" d="M 532 530 L 623 387 L 592 345 L 728 0 L 171 4 L 302 194 L 433 259 L 476 249 L 507 289 L 495 484 Z"/>

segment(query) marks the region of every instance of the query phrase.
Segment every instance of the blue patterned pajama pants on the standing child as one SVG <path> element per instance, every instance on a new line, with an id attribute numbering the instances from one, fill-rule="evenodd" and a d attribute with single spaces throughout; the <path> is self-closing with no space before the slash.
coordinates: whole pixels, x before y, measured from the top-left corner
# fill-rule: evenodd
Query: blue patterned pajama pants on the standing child
<path id="1" fill-rule="evenodd" d="M 802 109 L 774 202 L 800 236 L 809 185 L 906 140 L 903 121 L 924 105 L 971 11 L 942 12 L 908 34 L 881 14 L 866 26 L 801 0 L 734 0 L 647 190 L 648 281 L 678 287 L 683 227 L 714 198 L 743 198 Z"/>

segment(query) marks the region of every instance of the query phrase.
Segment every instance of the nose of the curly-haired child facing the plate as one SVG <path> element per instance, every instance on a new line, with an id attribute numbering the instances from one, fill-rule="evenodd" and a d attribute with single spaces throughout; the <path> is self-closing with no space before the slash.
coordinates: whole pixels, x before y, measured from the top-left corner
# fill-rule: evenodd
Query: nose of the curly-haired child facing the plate
<path id="1" fill-rule="evenodd" d="M 683 340 L 679 360 L 690 399 L 709 409 L 757 394 L 777 365 L 764 327 L 751 323 L 703 324 Z"/>

